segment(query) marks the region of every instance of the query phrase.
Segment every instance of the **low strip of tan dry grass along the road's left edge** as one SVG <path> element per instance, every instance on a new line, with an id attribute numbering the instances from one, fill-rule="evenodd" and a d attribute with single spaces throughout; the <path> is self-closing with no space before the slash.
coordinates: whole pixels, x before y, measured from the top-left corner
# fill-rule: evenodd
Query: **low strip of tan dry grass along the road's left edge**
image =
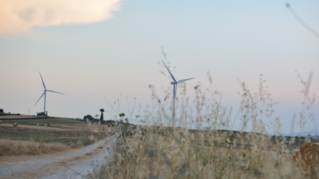
<path id="1" fill-rule="evenodd" d="M 61 143 L 38 143 L 34 141 L 0 140 L 0 156 L 38 155 L 60 152 L 69 149 Z"/>

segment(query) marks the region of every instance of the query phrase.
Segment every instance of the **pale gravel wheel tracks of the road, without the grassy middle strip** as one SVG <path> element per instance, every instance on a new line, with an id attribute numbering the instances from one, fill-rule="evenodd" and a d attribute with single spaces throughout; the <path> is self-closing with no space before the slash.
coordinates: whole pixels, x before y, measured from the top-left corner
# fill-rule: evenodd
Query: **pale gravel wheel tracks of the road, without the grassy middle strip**
<path id="1" fill-rule="evenodd" d="M 106 137 L 102 141 L 96 142 L 90 146 L 81 149 L 80 152 L 71 153 L 64 157 L 38 159 L 18 164 L 9 164 L 4 166 L 2 165 L 0 167 L 0 174 L 1 176 L 7 176 L 6 178 L 25 178 L 26 176 L 14 176 L 12 174 L 23 173 L 23 171 L 30 172 L 30 170 L 34 170 L 37 173 L 41 173 L 41 171 L 37 170 L 40 167 L 50 165 L 56 162 L 61 162 L 63 160 L 85 156 L 87 154 L 92 153 L 98 147 L 102 148 L 102 151 L 100 153 L 93 155 L 90 159 L 80 161 L 80 164 L 68 165 L 67 167 L 63 167 L 62 169 L 56 170 L 53 173 L 49 173 L 49 176 L 47 173 L 43 172 L 43 175 L 46 176 L 41 176 L 40 174 L 40 176 L 36 177 L 43 179 L 82 179 L 85 178 L 85 176 L 87 176 L 88 174 L 92 174 L 95 171 L 98 171 L 102 164 L 110 160 L 110 157 L 112 157 L 113 155 L 113 145 L 116 142 L 117 135 L 118 134 Z"/>

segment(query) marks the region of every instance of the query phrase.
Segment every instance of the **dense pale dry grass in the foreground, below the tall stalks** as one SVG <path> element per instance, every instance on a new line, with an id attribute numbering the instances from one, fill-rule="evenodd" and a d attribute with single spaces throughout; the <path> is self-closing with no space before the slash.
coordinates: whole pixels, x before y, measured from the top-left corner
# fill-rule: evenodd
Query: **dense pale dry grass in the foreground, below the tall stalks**
<path id="1" fill-rule="evenodd" d="M 100 178 L 114 179 L 281 179 L 292 177 L 288 154 L 277 159 L 252 146 L 250 150 L 236 149 L 238 141 L 220 148 L 206 146 L 203 134 L 187 130 L 171 133 L 122 136 L 115 148 L 114 160 L 101 171 Z M 210 136 L 213 138 L 214 134 Z M 262 137 L 256 136 L 256 139 Z M 231 137 L 218 134 L 217 140 Z M 257 140 L 255 141 L 256 143 Z M 255 149 L 254 149 L 255 148 Z"/>

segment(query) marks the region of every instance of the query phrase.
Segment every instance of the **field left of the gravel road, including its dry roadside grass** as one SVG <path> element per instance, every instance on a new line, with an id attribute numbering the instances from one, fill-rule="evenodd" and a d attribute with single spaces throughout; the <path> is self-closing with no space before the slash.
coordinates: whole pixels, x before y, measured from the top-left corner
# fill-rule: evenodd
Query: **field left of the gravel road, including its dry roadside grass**
<path id="1" fill-rule="evenodd" d="M 20 125 L 13 127 L 12 124 L 17 121 Z M 44 125 L 49 123 L 50 126 Z M 84 120 L 65 118 L 3 120 L 0 125 L 0 157 L 65 152 L 90 145 L 106 135 L 114 134 L 114 131 L 112 126 L 97 126 Z"/>

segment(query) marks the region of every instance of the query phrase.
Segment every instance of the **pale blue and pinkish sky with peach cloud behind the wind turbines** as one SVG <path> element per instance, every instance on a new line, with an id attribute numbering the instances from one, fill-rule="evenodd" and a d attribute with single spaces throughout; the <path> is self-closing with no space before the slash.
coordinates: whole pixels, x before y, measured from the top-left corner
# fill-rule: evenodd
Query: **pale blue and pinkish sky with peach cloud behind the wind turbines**
<path id="1" fill-rule="evenodd" d="M 283 133 L 319 129 L 317 100 L 316 125 L 308 121 L 291 130 L 303 102 L 295 70 L 304 80 L 312 71 L 309 95 L 319 92 L 319 38 L 287 2 L 319 32 L 317 0 L 0 0 L 0 108 L 43 112 L 43 98 L 34 105 L 44 90 L 41 72 L 47 90 L 65 93 L 47 92 L 50 116 L 110 112 L 106 100 L 113 104 L 121 94 L 119 112 L 132 109 L 136 98 L 138 115 L 152 105 L 149 85 L 162 100 L 164 90 L 172 90 L 163 60 L 177 80 L 195 77 L 184 84 L 190 103 L 195 86 L 210 86 L 208 71 L 221 104 L 234 109 L 241 99 L 238 80 L 258 92 L 263 74 L 279 102 L 274 110 Z"/>

